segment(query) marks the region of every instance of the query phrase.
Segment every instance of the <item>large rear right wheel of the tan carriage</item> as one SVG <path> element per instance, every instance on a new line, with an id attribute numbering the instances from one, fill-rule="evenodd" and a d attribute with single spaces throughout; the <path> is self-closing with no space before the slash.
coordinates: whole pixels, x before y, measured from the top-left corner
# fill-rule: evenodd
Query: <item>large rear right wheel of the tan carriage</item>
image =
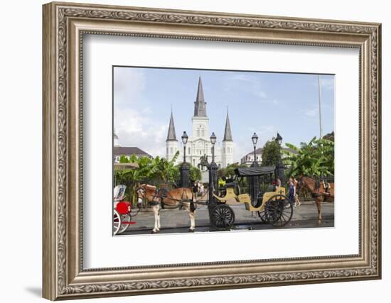
<path id="1" fill-rule="evenodd" d="M 264 208 L 265 219 L 272 226 L 282 227 L 291 221 L 293 205 L 283 194 L 276 194 L 267 201 Z"/>

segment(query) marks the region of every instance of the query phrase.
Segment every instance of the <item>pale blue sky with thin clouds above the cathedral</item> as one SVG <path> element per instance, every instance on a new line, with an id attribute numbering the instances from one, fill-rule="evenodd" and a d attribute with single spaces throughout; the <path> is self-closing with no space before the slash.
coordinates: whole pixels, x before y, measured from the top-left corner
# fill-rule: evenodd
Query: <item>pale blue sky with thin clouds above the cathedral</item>
<path id="1" fill-rule="evenodd" d="M 262 147 L 277 131 L 284 143 L 319 136 L 318 75 L 114 67 L 114 128 L 122 146 L 165 155 L 173 109 L 176 136 L 191 135 L 191 117 L 202 78 L 210 132 L 220 142 L 227 108 L 235 161 L 252 151 L 252 133 Z M 321 75 L 323 134 L 334 130 L 334 76 Z"/>

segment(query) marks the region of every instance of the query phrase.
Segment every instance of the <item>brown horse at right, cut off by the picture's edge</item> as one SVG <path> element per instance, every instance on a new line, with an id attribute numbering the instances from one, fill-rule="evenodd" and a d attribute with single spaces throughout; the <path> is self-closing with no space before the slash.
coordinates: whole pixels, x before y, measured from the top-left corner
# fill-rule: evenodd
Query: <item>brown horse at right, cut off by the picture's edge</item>
<path id="1" fill-rule="evenodd" d="M 318 207 L 318 220 L 321 221 L 321 202 L 334 202 L 334 183 L 326 184 L 324 181 L 318 182 L 309 177 L 300 177 L 296 192 L 299 193 L 301 188 L 309 189 L 311 192 L 311 196 L 315 199 L 316 206 Z"/>

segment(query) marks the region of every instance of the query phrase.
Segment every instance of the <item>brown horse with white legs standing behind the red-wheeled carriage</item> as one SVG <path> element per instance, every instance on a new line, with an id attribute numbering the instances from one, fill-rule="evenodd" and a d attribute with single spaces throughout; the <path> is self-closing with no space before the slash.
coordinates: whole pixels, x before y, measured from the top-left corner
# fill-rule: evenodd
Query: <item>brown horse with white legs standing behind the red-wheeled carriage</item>
<path id="1" fill-rule="evenodd" d="M 155 216 L 155 226 L 152 233 L 160 231 L 160 208 L 177 209 L 183 207 L 189 212 L 190 227 L 189 231 L 193 232 L 195 228 L 195 208 L 193 192 L 190 188 L 180 187 L 171 190 L 156 189 L 156 186 L 149 184 L 141 184 L 137 189 L 137 198 L 140 200 L 146 199 L 152 206 Z"/>

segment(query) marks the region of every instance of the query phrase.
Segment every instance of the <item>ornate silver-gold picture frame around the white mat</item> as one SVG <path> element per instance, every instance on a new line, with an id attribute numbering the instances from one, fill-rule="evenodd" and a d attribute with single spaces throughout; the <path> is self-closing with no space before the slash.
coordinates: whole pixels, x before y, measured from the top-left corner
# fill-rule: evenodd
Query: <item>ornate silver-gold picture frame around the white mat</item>
<path id="1" fill-rule="evenodd" d="M 358 254 L 85 269 L 83 35 L 355 48 Z M 43 6 L 43 297 L 80 299 L 381 277 L 381 25 L 50 3 Z"/>

